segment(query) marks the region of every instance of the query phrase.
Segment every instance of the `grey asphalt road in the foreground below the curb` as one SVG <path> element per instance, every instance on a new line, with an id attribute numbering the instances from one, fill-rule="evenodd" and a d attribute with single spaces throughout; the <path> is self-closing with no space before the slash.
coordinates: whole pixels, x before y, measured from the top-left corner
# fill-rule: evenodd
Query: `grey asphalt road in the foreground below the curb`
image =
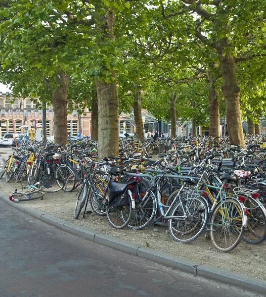
<path id="1" fill-rule="evenodd" d="M 253 297 L 102 247 L 0 200 L 0 297 Z"/>

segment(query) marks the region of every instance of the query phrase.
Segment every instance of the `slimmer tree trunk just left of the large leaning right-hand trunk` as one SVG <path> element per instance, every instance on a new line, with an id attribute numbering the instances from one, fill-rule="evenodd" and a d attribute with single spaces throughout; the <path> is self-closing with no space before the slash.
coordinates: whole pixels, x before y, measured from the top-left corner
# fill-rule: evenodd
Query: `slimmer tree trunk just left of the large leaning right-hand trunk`
<path id="1" fill-rule="evenodd" d="M 220 141 L 220 103 L 218 100 L 215 86 L 210 83 L 209 88 L 209 118 L 210 118 L 210 136 L 219 137 Z"/>

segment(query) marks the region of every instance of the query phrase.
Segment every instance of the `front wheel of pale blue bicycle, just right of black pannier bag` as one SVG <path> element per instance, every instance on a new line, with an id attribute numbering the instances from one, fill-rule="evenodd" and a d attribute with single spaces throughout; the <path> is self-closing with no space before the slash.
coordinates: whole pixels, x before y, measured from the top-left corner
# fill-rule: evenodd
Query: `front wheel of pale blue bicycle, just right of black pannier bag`
<path id="1" fill-rule="evenodd" d="M 132 218 L 128 224 L 131 229 L 143 229 L 154 218 L 157 211 L 157 203 L 152 192 L 148 193 L 145 200 L 142 198 L 147 192 L 147 187 L 142 184 L 139 188 L 139 197 L 135 197 L 135 208 L 132 210 Z"/>

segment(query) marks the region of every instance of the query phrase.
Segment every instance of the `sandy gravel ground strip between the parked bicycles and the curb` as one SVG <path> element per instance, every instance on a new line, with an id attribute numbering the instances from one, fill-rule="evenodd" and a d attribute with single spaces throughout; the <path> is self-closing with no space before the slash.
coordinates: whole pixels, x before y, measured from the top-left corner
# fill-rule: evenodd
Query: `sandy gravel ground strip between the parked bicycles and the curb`
<path id="1" fill-rule="evenodd" d="M 20 184 L 15 183 L 13 180 L 6 183 L 4 178 L 0 180 L 0 191 L 10 194 L 15 188 L 20 190 Z M 77 193 L 78 189 L 72 193 L 64 193 L 62 191 L 45 193 L 42 200 L 37 199 L 18 203 L 43 210 L 71 223 L 132 243 L 163 250 L 179 257 L 197 261 L 200 264 L 215 266 L 266 280 L 266 241 L 260 245 L 249 245 L 241 241 L 234 250 L 222 253 L 213 247 L 211 241 L 205 237 L 205 234 L 190 244 L 182 244 L 172 240 L 171 236 L 166 232 L 168 230 L 167 226 L 150 225 L 143 230 L 136 231 L 128 228 L 117 230 L 109 225 L 105 217 L 99 217 L 95 214 L 86 215 L 84 219 L 76 220 L 73 217 L 73 212 Z"/>

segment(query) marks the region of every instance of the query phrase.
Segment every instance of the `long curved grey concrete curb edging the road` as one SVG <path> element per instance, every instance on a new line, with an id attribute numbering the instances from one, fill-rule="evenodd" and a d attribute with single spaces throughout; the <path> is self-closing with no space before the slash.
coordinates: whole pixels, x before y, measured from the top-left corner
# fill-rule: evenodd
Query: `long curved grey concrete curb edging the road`
<path id="1" fill-rule="evenodd" d="M 9 196 L 7 196 L 3 192 L 0 192 L 0 198 L 12 207 L 19 209 L 24 213 L 27 213 L 34 218 L 43 221 L 44 223 L 66 231 L 72 235 L 76 235 L 78 237 L 86 239 L 95 244 L 124 251 L 134 256 L 151 260 L 156 263 L 180 270 L 182 272 L 193 274 L 194 276 L 222 282 L 227 285 L 239 287 L 259 294 L 266 293 L 266 282 L 263 280 L 249 278 L 245 275 L 223 270 L 220 268 L 218 269 L 215 267 L 209 267 L 207 265 L 201 265 L 197 262 L 185 258 L 180 258 L 163 251 L 155 250 L 149 247 L 142 247 L 116 237 L 98 233 L 88 228 L 69 223 L 68 221 L 47 214 L 41 210 L 19 205 L 16 202 L 10 201 Z"/>

